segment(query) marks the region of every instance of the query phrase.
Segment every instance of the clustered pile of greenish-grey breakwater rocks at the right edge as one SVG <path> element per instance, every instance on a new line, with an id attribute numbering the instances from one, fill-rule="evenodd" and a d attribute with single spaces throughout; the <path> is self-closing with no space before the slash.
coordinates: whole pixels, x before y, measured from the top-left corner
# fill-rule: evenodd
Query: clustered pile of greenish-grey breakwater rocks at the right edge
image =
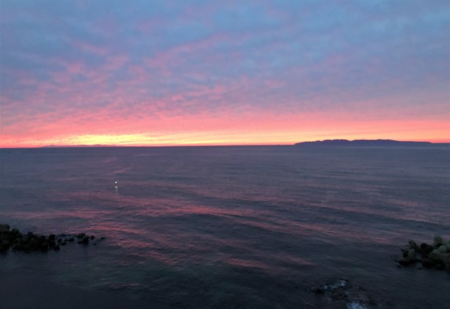
<path id="1" fill-rule="evenodd" d="M 413 240 L 405 249 L 401 249 L 403 257 L 399 264 L 403 266 L 422 263 L 423 268 L 435 268 L 450 272 L 450 240 L 436 236 L 432 244 L 423 242 L 418 246 Z"/>

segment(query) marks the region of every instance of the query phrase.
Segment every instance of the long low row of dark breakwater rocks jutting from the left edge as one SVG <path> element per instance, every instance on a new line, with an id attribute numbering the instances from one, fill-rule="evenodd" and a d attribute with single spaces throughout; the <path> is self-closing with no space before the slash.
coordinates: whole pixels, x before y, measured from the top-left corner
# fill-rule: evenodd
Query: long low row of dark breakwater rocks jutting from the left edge
<path id="1" fill-rule="evenodd" d="M 0 253 L 5 253 L 10 248 L 25 253 L 32 251 L 58 251 L 61 246 L 75 242 L 75 240 L 77 240 L 78 244 L 87 245 L 94 239 L 96 239 L 94 235 L 86 235 L 85 233 L 79 233 L 77 235 L 50 234 L 48 236 L 37 235 L 33 232 L 27 232 L 25 234 L 17 228 L 11 229 L 11 226 L 8 224 L 0 224 Z M 103 239 L 105 237 L 101 237 L 101 240 Z M 94 242 L 95 245 L 96 242 Z"/>

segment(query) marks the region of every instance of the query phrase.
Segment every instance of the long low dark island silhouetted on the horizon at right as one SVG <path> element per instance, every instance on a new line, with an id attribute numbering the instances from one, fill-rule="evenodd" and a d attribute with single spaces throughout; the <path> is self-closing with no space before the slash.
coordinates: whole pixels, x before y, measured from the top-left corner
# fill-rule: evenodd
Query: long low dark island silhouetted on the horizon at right
<path id="1" fill-rule="evenodd" d="M 316 140 L 314 142 L 296 143 L 296 146 L 419 146 L 431 145 L 430 142 L 403 142 L 400 140 Z"/>

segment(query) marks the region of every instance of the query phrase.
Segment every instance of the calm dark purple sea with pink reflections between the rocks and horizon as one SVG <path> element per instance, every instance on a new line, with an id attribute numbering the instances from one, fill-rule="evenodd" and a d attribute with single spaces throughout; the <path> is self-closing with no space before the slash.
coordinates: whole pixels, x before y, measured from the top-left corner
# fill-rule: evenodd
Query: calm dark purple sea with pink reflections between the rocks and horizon
<path id="1" fill-rule="evenodd" d="M 450 238 L 449 145 L 1 149 L 0 223 L 97 237 L 0 270 L 155 308 L 342 308 L 307 291 L 340 278 L 449 308 L 448 272 L 395 262 Z"/>

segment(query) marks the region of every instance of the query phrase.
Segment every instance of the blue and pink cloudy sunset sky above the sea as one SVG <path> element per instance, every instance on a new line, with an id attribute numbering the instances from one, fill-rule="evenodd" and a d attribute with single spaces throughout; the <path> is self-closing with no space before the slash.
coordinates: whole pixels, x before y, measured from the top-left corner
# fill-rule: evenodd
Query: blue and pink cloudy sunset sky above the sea
<path id="1" fill-rule="evenodd" d="M 0 147 L 450 142 L 447 0 L 0 0 Z"/>

